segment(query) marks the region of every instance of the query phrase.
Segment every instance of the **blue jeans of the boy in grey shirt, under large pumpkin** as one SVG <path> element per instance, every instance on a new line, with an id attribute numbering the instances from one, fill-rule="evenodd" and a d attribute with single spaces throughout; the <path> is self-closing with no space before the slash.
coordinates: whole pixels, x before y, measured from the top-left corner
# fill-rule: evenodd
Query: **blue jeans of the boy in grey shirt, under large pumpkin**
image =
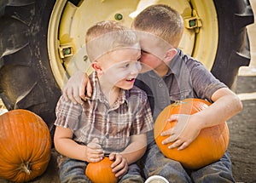
<path id="1" fill-rule="evenodd" d="M 201 169 L 189 170 L 184 169 L 181 163 L 166 158 L 155 142 L 152 142 L 139 164 L 146 178 L 158 174 L 169 182 L 235 182 L 228 152 L 218 162 Z"/>

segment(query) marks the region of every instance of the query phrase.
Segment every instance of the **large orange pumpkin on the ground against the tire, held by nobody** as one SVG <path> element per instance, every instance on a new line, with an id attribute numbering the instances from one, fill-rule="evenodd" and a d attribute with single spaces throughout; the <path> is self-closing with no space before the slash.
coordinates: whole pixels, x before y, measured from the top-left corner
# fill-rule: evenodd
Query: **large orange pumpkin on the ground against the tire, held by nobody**
<path id="1" fill-rule="evenodd" d="M 17 109 L 0 116 L 0 146 L 0 177 L 5 180 L 32 180 L 48 166 L 49 129 L 33 112 Z"/>

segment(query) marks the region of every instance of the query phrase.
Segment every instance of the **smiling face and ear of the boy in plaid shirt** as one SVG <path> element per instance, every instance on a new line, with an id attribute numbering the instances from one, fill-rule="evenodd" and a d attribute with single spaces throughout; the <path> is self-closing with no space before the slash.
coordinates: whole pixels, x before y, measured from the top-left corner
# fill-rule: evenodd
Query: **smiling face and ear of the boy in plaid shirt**
<path id="1" fill-rule="evenodd" d="M 96 71 L 102 84 L 120 89 L 131 89 L 141 71 L 141 49 L 122 48 L 102 55 L 97 62 Z"/>

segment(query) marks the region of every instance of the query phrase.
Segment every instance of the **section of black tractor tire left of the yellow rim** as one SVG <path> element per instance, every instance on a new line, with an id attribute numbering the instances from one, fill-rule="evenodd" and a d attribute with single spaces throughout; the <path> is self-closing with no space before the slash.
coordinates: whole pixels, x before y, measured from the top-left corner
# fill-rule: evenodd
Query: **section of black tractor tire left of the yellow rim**
<path id="1" fill-rule="evenodd" d="M 47 53 L 48 23 L 54 4 L 54 1 L 14 1 L 2 4 L 0 17 L 3 103 L 8 110 L 21 108 L 37 113 L 51 134 L 55 105 L 61 95 Z"/>

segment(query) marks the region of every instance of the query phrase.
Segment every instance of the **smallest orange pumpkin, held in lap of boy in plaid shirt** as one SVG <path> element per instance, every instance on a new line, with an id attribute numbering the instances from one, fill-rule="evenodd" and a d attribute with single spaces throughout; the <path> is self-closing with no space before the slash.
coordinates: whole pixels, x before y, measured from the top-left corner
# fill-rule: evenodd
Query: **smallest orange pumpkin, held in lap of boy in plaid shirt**
<path id="1" fill-rule="evenodd" d="M 85 174 L 93 183 L 116 183 L 118 178 L 114 176 L 110 165 L 113 163 L 108 157 L 97 163 L 89 163 Z"/>

